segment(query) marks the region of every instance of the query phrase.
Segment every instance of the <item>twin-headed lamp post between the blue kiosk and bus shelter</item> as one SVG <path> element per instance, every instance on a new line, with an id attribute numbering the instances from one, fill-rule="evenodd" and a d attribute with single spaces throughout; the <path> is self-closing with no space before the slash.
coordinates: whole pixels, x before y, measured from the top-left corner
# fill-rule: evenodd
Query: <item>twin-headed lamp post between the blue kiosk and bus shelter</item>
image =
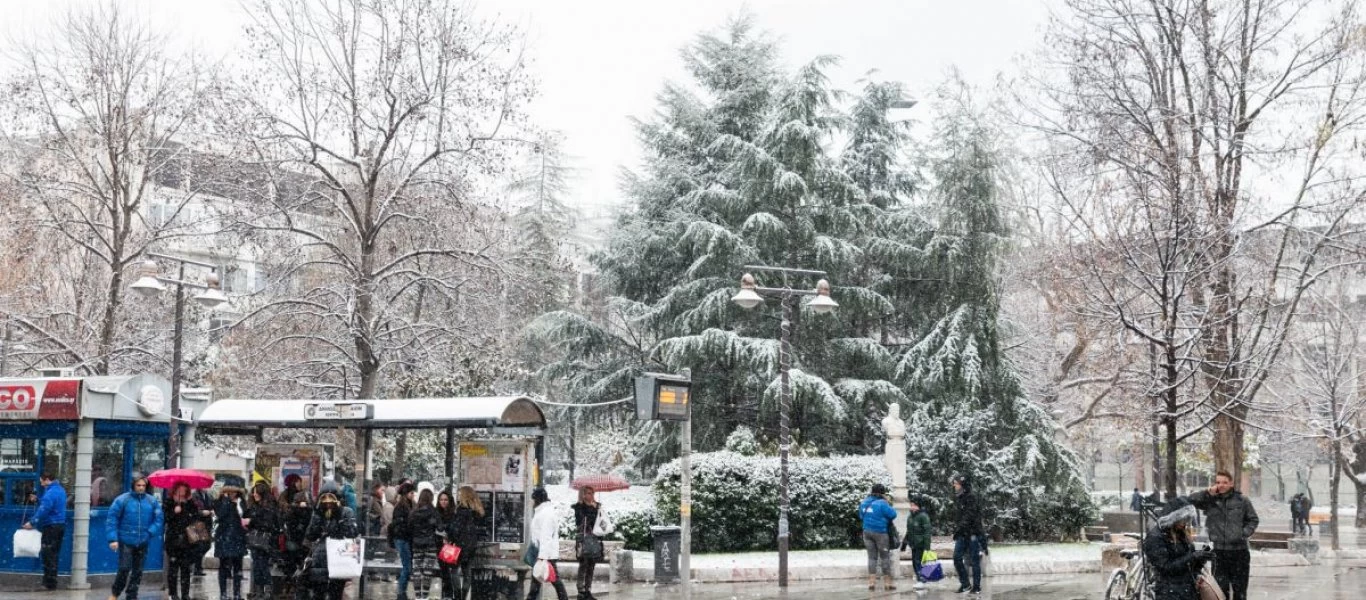
<path id="1" fill-rule="evenodd" d="M 149 258 L 139 267 L 138 280 L 133 282 L 131 287 L 143 297 L 152 298 L 165 291 L 167 286 L 175 286 L 175 332 L 171 340 L 171 436 L 167 439 L 167 444 L 169 446 L 167 448 L 167 467 L 175 469 L 180 466 L 180 362 L 184 338 L 184 288 L 202 290 L 194 295 L 194 301 L 206 309 L 223 305 L 228 301 L 228 297 L 220 290 L 219 265 L 150 251 L 146 256 Z M 176 277 L 160 276 L 157 261 L 153 258 L 175 262 Z M 209 275 L 204 277 L 204 283 L 189 282 L 184 279 L 186 265 L 209 269 Z"/>

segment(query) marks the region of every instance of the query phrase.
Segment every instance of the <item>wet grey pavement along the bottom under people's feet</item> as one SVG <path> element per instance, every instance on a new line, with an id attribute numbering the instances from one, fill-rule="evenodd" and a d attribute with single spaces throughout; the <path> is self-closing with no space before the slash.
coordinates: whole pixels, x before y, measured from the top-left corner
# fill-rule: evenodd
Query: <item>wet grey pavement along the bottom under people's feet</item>
<path id="1" fill-rule="evenodd" d="M 195 584 L 195 600 L 216 600 L 217 581 L 213 573 Z M 839 579 L 825 582 L 794 582 L 788 590 L 780 592 L 777 584 L 699 584 L 693 589 L 695 600 L 759 600 L 759 599 L 839 599 L 839 600 L 885 600 L 915 599 L 937 600 L 963 597 L 953 592 L 956 582 L 941 581 L 929 589 L 917 592 L 899 582 L 895 592 L 869 592 L 862 579 Z M 984 599 L 994 600 L 1093 600 L 1104 595 L 1104 577 L 1100 574 L 1079 575 L 1012 575 L 989 577 L 984 581 Z M 366 597 L 393 600 L 393 584 L 372 584 Z M 654 586 L 646 584 L 594 586 L 594 595 L 602 600 L 678 600 L 682 590 L 678 586 Z M 108 588 L 89 592 L 5 592 L 5 600 L 107 600 Z M 1366 597 L 1366 562 L 1356 560 L 1348 566 L 1280 567 L 1262 569 L 1251 578 L 1249 600 L 1358 600 Z M 354 589 L 348 589 L 354 599 Z M 438 597 L 433 593 L 433 597 Z M 545 599 L 553 595 L 544 593 Z M 572 584 L 570 597 L 574 597 Z M 161 600 L 165 593 L 160 585 L 145 588 L 139 600 Z"/>

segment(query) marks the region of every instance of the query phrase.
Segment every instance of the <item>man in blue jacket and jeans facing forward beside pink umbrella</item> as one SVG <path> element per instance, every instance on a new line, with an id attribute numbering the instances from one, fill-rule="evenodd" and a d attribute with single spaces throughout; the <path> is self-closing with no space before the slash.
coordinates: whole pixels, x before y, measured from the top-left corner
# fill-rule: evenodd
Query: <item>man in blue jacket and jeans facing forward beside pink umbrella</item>
<path id="1" fill-rule="evenodd" d="M 109 600 L 119 600 L 127 590 L 128 600 L 138 599 L 142 584 L 142 562 L 148 558 L 148 544 L 161 536 L 161 503 L 148 493 L 148 480 L 133 480 L 133 491 L 113 499 L 105 518 L 105 537 L 109 549 L 119 552 L 119 574 L 113 578 Z"/>

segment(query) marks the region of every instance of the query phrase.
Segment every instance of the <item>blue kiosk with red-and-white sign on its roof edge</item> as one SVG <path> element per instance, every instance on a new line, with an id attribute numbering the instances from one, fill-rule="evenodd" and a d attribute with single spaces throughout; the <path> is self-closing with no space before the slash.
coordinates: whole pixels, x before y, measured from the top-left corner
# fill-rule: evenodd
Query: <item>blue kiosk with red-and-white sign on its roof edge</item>
<path id="1" fill-rule="evenodd" d="M 41 575 L 38 559 L 14 558 L 14 532 L 33 515 L 38 476 L 67 489 L 67 536 L 59 574 L 89 588 L 89 575 L 117 571 L 105 540 L 109 504 L 134 477 L 165 467 L 169 381 L 150 376 L 0 379 L 0 577 Z M 206 402 L 182 396 L 182 465 L 194 463 L 193 415 Z M 161 570 L 153 540 L 146 571 Z"/>

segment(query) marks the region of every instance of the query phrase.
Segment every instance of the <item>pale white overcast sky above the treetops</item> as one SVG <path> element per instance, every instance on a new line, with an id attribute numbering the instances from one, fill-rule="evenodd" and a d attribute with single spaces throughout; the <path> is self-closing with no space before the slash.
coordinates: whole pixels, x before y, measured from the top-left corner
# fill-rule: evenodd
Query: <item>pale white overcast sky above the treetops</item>
<path id="1" fill-rule="evenodd" d="M 41 34 L 70 5 L 98 0 L 0 0 L 0 36 Z M 209 56 L 238 52 L 246 14 L 236 0 L 120 0 Z M 564 134 L 576 168 L 572 204 L 601 228 L 622 205 L 617 175 L 639 160 L 631 118 L 647 118 L 667 81 L 684 81 L 680 49 L 742 10 L 796 66 L 841 57 L 829 75 L 846 90 L 869 70 L 926 97 L 951 68 L 973 85 L 1007 77 L 1038 48 L 1048 0 L 484 0 L 479 12 L 518 25 L 540 94 L 534 122 Z M 914 111 L 923 111 L 923 105 Z M 915 118 L 915 115 L 910 115 Z M 591 236 L 591 235 L 590 235 Z"/>

